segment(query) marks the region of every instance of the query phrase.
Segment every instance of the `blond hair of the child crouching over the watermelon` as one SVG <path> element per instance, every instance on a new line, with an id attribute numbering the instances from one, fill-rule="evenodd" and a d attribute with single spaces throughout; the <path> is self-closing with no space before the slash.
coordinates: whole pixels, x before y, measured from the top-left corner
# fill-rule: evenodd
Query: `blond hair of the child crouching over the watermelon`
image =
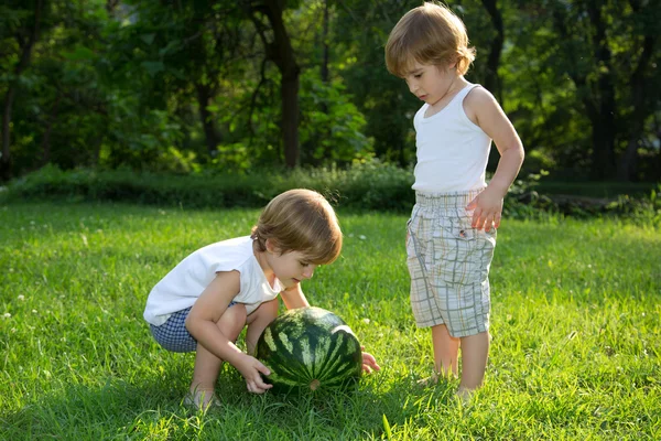
<path id="1" fill-rule="evenodd" d="M 330 263 L 342 250 L 342 230 L 324 196 L 295 189 L 275 196 L 262 211 L 250 235 L 260 251 L 270 240 L 280 252 L 300 251 L 312 263 Z"/>

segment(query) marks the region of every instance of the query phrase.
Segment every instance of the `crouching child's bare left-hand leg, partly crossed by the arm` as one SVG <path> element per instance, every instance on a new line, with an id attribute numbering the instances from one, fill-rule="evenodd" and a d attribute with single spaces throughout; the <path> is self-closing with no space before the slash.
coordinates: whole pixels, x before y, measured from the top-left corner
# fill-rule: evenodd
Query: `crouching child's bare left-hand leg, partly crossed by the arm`
<path id="1" fill-rule="evenodd" d="M 230 341 L 236 341 L 246 325 L 246 306 L 237 303 L 216 322 L 220 332 Z M 214 399 L 214 389 L 223 361 L 208 352 L 203 345 L 197 345 L 195 369 L 191 381 L 191 396 L 196 407 L 206 409 Z"/>

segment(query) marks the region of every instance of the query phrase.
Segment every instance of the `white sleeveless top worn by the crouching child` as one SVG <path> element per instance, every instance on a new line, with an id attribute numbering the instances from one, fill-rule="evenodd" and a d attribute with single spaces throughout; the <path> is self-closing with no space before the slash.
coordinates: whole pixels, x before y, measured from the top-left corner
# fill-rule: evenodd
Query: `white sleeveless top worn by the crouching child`
<path id="1" fill-rule="evenodd" d="M 144 320 L 161 325 L 174 312 L 192 306 L 219 271 L 239 271 L 240 290 L 234 301 L 245 303 L 248 314 L 262 302 L 278 297 L 282 286 L 267 280 L 252 252 L 250 236 L 208 245 L 182 260 L 152 289 L 147 299 Z"/>

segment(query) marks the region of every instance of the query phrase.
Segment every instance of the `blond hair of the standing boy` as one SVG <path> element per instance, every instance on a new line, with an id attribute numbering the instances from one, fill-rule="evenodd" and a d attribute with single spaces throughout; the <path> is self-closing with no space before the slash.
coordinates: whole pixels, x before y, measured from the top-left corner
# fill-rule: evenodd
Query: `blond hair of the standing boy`
<path id="1" fill-rule="evenodd" d="M 425 65 L 456 63 L 457 73 L 468 72 L 475 49 L 468 46 L 464 22 L 446 6 L 424 2 L 407 12 L 394 25 L 386 44 L 388 71 L 404 77 L 418 62 Z"/>

